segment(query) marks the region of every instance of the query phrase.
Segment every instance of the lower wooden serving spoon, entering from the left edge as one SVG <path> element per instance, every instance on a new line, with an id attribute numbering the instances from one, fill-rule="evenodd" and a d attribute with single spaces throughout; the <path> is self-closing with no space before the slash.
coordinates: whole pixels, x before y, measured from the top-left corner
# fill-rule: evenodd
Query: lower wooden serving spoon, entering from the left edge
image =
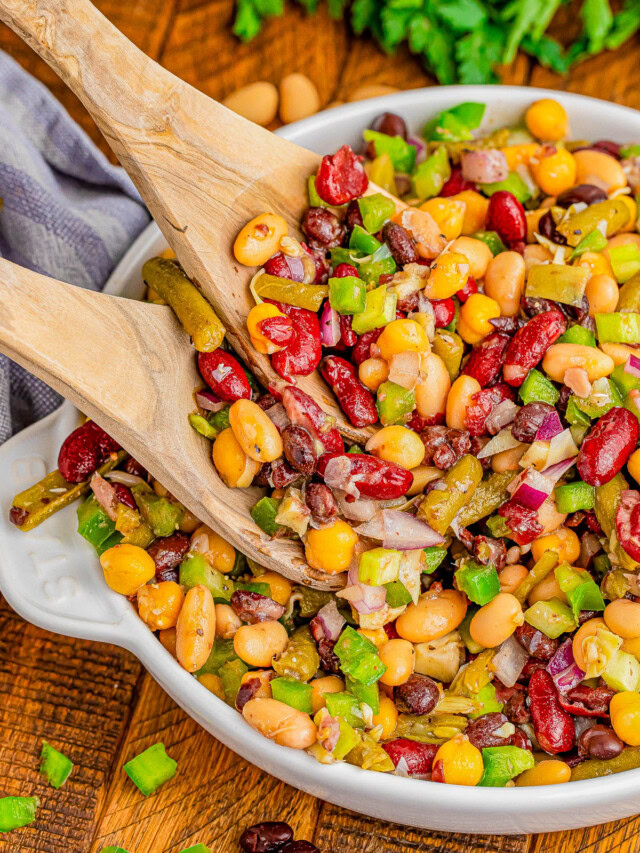
<path id="1" fill-rule="evenodd" d="M 63 284 L 0 259 L 0 352 L 71 400 L 195 515 L 261 565 L 319 589 L 344 576 L 307 565 L 299 542 L 269 539 L 249 510 L 262 490 L 228 489 L 188 423 L 194 349 L 165 305 Z"/>

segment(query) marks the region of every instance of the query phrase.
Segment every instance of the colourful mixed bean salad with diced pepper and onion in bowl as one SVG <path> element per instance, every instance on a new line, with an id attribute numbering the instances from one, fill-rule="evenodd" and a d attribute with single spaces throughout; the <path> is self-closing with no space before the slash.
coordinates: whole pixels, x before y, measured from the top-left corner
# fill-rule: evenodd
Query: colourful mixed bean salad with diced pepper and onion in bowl
<path id="1" fill-rule="evenodd" d="M 106 583 L 282 746 L 547 785 L 640 767 L 640 144 L 572 140 L 551 99 L 483 114 L 384 113 L 309 176 L 302 239 L 242 228 L 273 387 L 172 253 L 143 269 L 197 350 L 215 471 L 342 589 L 245 558 L 92 421 L 11 520 L 80 499 Z M 362 444 L 297 387 L 316 370 Z"/>

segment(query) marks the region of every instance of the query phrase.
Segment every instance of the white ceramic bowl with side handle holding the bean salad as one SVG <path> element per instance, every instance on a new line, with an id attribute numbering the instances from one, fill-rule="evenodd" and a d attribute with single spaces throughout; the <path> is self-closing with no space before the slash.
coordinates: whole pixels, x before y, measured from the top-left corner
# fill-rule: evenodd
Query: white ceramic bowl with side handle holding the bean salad
<path id="1" fill-rule="evenodd" d="M 488 104 L 484 127 L 512 124 L 538 97 L 566 107 L 574 138 L 640 141 L 640 114 L 604 101 L 561 92 L 497 86 L 416 89 L 347 104 L 281 131 L 319 153 L 343 142 L 358 145 L 378 113 L 400 113 L 419 130 L 461 101 Z M 164 248 L 151 224 L 113 273 L 107 290 L 138 298 L 143 261 Z M 640 770 L 561 788 L 464 788 L 323 766 L 303 752 L 276 746 L 253 731 L 188 675 L 137 617 L 126 599 L 105 585 L 93 549 L 76 533 L 75 507 L 25 534 L 7 520 L 13 495 L 56 465 L 58 449 L 79 422 L 69 403 L 0 448 L 0 588 L 25 619 L 60 634 L 116 643 L 132 651 L 178 704 L 211 734 L 249 761 L 291 785 L 341 806 L 417 827 L 477 833 L 534 833 L 588 826 L 635 814 Z"/>

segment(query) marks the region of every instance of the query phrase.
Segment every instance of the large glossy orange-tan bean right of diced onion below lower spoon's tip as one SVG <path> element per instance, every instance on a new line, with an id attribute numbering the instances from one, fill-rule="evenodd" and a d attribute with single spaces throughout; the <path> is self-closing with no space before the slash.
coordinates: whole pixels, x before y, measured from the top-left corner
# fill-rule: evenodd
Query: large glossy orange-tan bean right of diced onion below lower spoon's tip
<path id="1" fill-rule="evenodd" d="M 466 598 L 455 589 L 425 592 L 396 620 L 396 631 L 411 643 L 428 643 L 454 631 L 467 615 Z"/>

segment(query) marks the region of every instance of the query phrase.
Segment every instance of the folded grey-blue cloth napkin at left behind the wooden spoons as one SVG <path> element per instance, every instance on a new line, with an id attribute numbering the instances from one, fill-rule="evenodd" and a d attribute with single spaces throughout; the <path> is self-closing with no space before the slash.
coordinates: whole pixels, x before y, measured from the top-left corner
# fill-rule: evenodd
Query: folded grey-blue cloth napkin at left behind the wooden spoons
<path id="1" fill-rule="evenodd" d="M 2 51 L 0 197 L 0 255 L 91 290 L 102 289 L 149 222 L 124 170 L 112 166 L 48 89 Z M 0 444 L 61 400 L 0 355 Z"/>

